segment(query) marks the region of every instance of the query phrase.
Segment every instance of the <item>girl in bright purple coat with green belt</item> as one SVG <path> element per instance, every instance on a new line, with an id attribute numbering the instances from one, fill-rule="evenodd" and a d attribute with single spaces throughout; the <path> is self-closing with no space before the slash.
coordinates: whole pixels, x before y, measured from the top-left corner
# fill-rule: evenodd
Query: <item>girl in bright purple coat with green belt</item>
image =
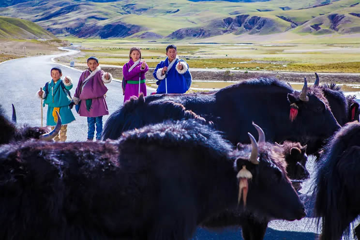
<path id="1" fill-rule="evenodd" d="M 131 96 L 139 96 L 140 92 L 146 96 L 145 73 L 149 71 L 149 66 L 145 60 L 141 61 L 141 50 L 138 47 L 130 49 L 129 61 L 122 67 L 122 74 L 126 82 L 124 91 L 124 102 Z"/>

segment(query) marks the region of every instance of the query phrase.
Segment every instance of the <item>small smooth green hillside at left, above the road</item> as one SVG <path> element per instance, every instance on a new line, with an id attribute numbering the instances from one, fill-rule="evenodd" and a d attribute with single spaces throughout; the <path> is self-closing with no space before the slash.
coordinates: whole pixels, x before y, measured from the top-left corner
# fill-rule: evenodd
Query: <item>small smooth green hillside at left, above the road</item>
<path id="1" fill-rule="evenodd" d="M 31 21 L 0 16 L 0 38 L 55 39 L 56 37 Z"/>

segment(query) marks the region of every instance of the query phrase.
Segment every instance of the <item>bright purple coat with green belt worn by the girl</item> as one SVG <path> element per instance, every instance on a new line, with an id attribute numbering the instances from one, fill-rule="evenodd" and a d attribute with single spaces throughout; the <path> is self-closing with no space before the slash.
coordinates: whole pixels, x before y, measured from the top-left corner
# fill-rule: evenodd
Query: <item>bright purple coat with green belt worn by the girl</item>
<path id="1" fill-rule="evenodd" d="M 149 71 L 149 66 L 146 64 L 145 69 L 141 69 L 141 63 L 140 61 L 136 67 L 134 67 L 130 72 L 129 68 L 134 65 L 134 61 L 130 59 L 123 67 L 122 67 L 122 75 L 124 75 L 124 79 L 126 81 L 139 81 L 139 76 L 141 80 L 145 79 L 145 73 Z M 141 83 L 140 84 L 140 92 L 146 96 L 146 84 Z M 125 93 L 124 93 L 124 102 L 129 100 L 131 96 L 138 97 L 139 93 L 139 85 L 138 84 L 126 84 L 125 87 Z"/>

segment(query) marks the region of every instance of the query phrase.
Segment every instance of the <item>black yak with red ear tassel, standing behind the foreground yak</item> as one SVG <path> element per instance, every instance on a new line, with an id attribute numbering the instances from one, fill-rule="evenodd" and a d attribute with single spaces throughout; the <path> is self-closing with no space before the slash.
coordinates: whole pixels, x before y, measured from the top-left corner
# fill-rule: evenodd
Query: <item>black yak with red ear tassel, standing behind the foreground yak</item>
<path id="1" fill-rule="evenodd" d="M 215 128 L 223 131 L 234 145 L 249 143 L 247 132 L 250 129 L 251 133 L 255 133 L 251 130 L 252 121 L 263 128 L 270 142 L 289 140 L 307 144 L 308 153 L 319 150 L 323 140 L 340 128 L 322 91 L 317 88 L 308 90 L 306 79 L 301 92 L 277 79 L 259 78 L 228 86 L 213 94 L 150 95 L 145 98 L 145 105 L 163 105 L 166 101 L 179 103 L 212 121 Z M 127 126 L 129 119 L 137 122 L 148 118 L 156 122 L 166 119 L 158 113 L 159 109 L 142 114 L 145 111 L 146 106 L 132 105 L 129 109 L 124 104 L 106 121 L 103 139 L 117 139 L 122 131 L 131 129 Z M 168 111 L 171 108 L 166 109 L 166 113 L 170 114 Z M 141 126 L 132 124 L 133 128 Z"/>

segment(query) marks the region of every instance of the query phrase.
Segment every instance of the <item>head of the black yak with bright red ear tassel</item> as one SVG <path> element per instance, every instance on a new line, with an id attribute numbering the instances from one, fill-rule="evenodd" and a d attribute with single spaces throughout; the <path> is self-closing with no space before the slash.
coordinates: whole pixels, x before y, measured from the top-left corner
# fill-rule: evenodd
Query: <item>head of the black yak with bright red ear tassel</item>
<path id="1" fill-rule="evenodd" d="M 295 132 L 294 137 L 288 140 L 308 144 L 308 153 L 315 153 L 323 146 L 324 140 L 341 127 L 323 92 L 318 88 L 308 89 L 306 77 L 301 92 L 288 93 L 287 100 L 291 128 Z"/>

